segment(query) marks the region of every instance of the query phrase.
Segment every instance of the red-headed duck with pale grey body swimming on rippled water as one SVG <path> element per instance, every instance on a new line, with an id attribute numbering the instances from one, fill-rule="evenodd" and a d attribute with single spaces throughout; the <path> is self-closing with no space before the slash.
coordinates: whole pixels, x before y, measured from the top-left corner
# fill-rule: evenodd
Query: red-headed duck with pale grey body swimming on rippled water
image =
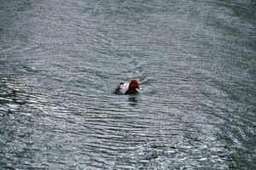
<path id="1" fill-rule="evenodd" d="M 115 89 L 116 94 L 139 94 L 139 82 L 136 79 L 131 80 L 130 83 L 120 82 L 118 88 Z"/>

